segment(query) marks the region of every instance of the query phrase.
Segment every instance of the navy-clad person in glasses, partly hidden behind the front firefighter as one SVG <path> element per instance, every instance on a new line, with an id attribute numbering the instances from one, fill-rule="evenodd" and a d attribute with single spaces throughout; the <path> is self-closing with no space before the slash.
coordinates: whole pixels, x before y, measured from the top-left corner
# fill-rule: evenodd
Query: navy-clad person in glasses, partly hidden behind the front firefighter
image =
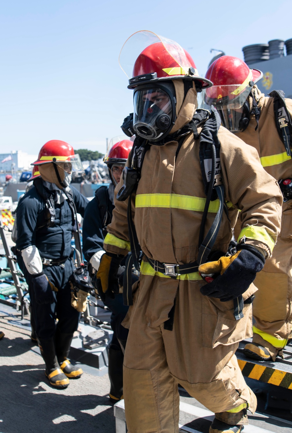
<path id="1" fill-rule="evenodd" d="M 96 190 L 95 198 L 88 204 L 83 220 L 83 254 L 93 268 L 93 275 L 99 268 L 99 262 L 104 254 L 103 241 L 106 236 L 106 226 L 112 220 L 114 208 L 114 190 L 119 183 L 122 170 L 127 162 L 128 155 L 132 149 L 133 142 L 127 137 L 116 137 L 111 140 L 104 162 L 109 168 L 111 183 L 109 187 L 101 186 Z M 119 281 L 122 286 L 124 267 L 119 268 Z M 92 284 L 95 285 L 96 278 Z M 97 293 L 104 304 L 112 311 L 111 326 L 114 331 L 109 346 L 109 398 L 113 403 L 119 401 L 123 394 L 123 359 L 128 330 L 121 323 L 128 312 L 128 306 L 123 305 L 122 293 L 115 293 L 108 296 L 103 292 Z"/>

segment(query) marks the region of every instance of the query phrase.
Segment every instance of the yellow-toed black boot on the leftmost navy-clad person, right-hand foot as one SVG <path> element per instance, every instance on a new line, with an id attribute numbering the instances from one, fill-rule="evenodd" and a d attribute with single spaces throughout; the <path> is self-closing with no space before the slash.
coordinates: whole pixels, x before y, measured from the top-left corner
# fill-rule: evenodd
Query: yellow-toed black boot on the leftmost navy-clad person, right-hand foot
<path id="1" fill-rule="evenodd" d="M 60 368 L 64 375 L 70 379 L 78 379 L 82 375 L 83 371 L 81 368 L 77 368 L 72 365 L 69 359 L 67 359 L 71 341 L 73 338 L 73 333 L 61 333 L 58 329 L 56 330 L 56 354 Z"/>

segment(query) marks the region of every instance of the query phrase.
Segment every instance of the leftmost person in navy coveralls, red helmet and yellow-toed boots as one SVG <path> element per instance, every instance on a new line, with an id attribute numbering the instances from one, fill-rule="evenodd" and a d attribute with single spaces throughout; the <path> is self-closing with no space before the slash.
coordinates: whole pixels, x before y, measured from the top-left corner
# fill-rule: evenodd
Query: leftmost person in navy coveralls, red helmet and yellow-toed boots
<path id="1" fill-rule="evenodd" d="M 70 187 L 72 165 L 80 164 L 71 145 L 51 140 L 42 146 L 32 165 L 33 187 L 16 210 L 16 248 L 23 260 L 23 273 L 30 288 L 35 334 L 45 361 L 45 375 L 55 388 L 67 388 L 68 378 L 82 370 L 67 359 L 79 313 L 71 306 L 69 278 L 72 230 L 76 211 L 82 216 L 88 200 Z M 56 324 L 56 319 L 58 323 Z"/>

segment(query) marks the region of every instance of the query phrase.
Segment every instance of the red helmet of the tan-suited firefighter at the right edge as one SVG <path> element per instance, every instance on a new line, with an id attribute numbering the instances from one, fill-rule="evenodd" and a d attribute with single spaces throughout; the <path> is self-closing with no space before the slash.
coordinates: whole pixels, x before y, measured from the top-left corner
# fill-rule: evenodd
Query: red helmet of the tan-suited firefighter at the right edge
<path id="1" fill-rule="evenodd" d="M 216 107 L 240 108 L 254 84 L 263 77 L 237 57 L 224 55 L 213 61 L 205 75 L 213 86 L 205 90 L 205 102 Z"/>

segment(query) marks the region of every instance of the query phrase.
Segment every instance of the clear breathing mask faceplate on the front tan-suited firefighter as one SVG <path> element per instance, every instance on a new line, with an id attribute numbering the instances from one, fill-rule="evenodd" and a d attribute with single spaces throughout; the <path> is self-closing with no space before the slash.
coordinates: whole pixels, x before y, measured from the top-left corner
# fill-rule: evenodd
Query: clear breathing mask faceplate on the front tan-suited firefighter
<path id="1" fill-rule="evenodd" d="M 136 135 L 154 142 L 168 135 L 175 120 L 176 98 L 174 86 L 173 92 L 170 91 L 172 86 L 172 83 L 157 87 L 152 84 L 134 90 L 133 129 Z"/>

